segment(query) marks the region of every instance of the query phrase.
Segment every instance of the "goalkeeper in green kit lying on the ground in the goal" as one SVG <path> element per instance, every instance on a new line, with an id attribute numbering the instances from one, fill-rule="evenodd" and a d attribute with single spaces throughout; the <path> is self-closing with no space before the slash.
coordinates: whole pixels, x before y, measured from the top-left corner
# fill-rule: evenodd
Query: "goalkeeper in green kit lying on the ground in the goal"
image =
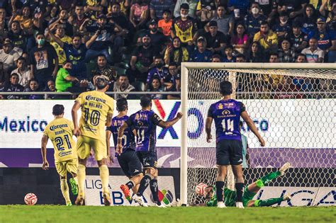
<path id="1" fill-rule="evenodd" d="M 273 180 L 274 178 L 277 178 L 279 176 L 284 176 L 284 173 L 291 164 L 286 163 L 284 166 L 279 168 L 279 171 L 269 173 L 266 176 L 263 176 L 258 181 L 255 181 L 254 183 L 247 185 L 244 189 L 244 193 L 242 195 L 242 203 L 244 207 L 264 207 L 264 206 L 271 206 L 278 202 L 284 201 L 284 200 L 290 200 L 290 195 L 284 195 L 284 197 L 281 198 L 270 198 L 267 200 L 253 200 L 254 195 L 258 193 L 260 188 L 262 188 L 265 184 L 269 183 L 269 181 Z M 215 195 L 215 186 L 208 186 L 204 189 L 204 197 L 206 199 L 210 199 L 208 202 L 206 202 L 205 206 L 208 207 L 216 207 L 217 206 L 217 198 Z M 224 202 L 227 207 L 235 207 L 235 200 L 236 200 L 236 192 L 234 190 L 229 190 L 228 188 L 224 188 Z"/>

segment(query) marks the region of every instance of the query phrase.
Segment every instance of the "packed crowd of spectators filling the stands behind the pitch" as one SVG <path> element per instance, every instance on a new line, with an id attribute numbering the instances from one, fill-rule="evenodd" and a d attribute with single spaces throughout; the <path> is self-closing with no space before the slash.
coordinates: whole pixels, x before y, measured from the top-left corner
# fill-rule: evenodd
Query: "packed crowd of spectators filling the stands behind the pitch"
<path id="1" fill-rule="evenodd" d="M 181 62 L 336 62 L 336 0 L 0 0 L 0 49 L 0 91 L 30 99 L 180 91 Z"/>

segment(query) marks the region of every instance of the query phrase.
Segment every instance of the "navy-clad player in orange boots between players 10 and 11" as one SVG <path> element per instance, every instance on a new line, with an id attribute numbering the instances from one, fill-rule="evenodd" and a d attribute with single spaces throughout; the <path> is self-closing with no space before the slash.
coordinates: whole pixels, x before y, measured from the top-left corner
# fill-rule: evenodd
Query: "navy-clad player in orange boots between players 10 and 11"
<path id="1" fill-rule="evenodd" d="M 128 103 L 126 98 L 119 98 L 116 103 L 118 115 L 112 119 L 112 125 L 106 127 L 106 145 L 108 149 L 108 157 L 111 157 L 110 153 L 110 138 L 111 134 L 113 135 L 114 147 L 118 144 L 118 129 L 123 125 L 123 122 L 128 120 Z M 130 189 L 133 190 L 133 194 L 138 192 L 138 185 L 143 176 L 142 174 L 142 165 L 140 160 L 135 153 L 135 137 L 133 131 L 130 127 L 127 127 L 122 136 L 122 146 L 123 151 L 121 154 L 116 152 L 115 156 L 118 159 L 118 163 L 130 181 L 128 183 L 121 185 L 121 190 L 125 195 L 127 200 L 132 200 L 130 196 Z"/>

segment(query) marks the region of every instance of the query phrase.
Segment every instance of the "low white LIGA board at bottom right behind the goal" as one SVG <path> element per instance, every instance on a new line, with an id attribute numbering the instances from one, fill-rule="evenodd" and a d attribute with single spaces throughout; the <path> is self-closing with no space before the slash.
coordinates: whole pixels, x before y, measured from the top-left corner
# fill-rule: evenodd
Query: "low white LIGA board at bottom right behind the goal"
<path id="1" fill-rule="evenodd" d="M 296 188 L 296 187 L 263 187 L 254 200 L 267 200 L 279 198 L 286 194 L 291 195 L 291 200 L 286 200 L 274 205 L 281 207 L 291 206 L 330 206 L 336 205 L 336 188 Z"/>

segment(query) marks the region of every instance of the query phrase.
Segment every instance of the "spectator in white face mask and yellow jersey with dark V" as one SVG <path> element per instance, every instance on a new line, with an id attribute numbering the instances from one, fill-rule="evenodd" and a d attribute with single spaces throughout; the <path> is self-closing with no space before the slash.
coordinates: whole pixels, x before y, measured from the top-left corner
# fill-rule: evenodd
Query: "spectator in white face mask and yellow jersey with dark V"
<path id="1" fill-rule="evenodd" d="M 196 38 L 197 24 L 194 18 L 188 16 L 189 5 L 181 4 L 181 16 L 174 19 L 172 23 L 172 38 L 176 36 L 181 40 L 182 45 L 188 45 L 187 50 L 191 52 L 191 46 L 194 44 Z"/>

